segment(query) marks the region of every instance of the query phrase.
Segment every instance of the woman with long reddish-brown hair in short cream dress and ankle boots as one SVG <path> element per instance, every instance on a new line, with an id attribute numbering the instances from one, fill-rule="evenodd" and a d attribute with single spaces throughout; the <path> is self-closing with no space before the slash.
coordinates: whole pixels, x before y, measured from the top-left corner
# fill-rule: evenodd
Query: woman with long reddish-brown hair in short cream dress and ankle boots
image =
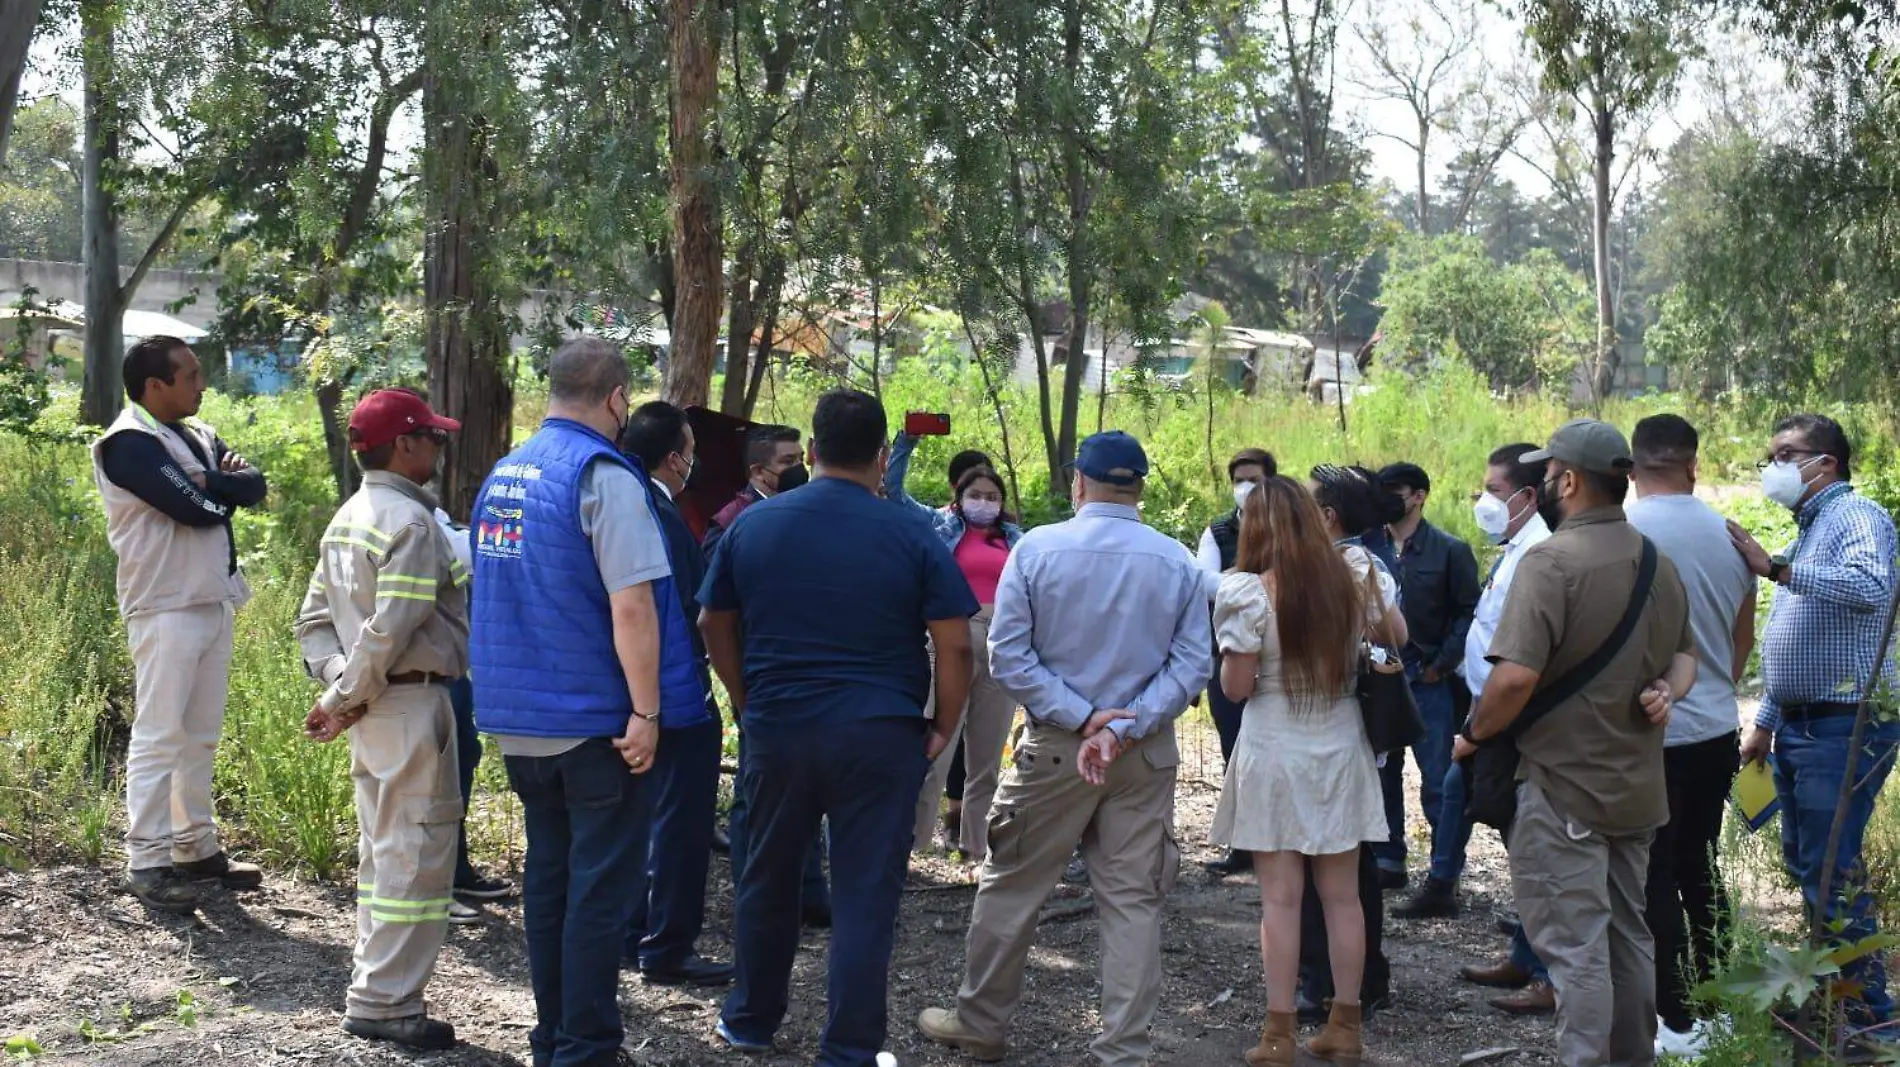
<path id="1" fill-rule="evenodd" d="M 1246 712 L 1220 790 L 1214 841 L 1250 851 L 1260 877 L 1267 1023 L 1246 1052 L 1252 1067 L 1294 1063 L 1300 900 L 1309 862 L 1326 913 L 1334 1001 L 1326 1029 L 1307 1050 L 1349 1063 L 1364 1054 L 1358 849 L 1385 837 L 1385 809 L 1353 682 L 1360 642 L 1396 613 L 1378 581 L 1364 549 L 1334 547 L 1300 482 L 1267 478 L 1241 505 L 1241 552 L 1214 598 L 1214 632 L 1222 689 L 1246 701 Z"/>

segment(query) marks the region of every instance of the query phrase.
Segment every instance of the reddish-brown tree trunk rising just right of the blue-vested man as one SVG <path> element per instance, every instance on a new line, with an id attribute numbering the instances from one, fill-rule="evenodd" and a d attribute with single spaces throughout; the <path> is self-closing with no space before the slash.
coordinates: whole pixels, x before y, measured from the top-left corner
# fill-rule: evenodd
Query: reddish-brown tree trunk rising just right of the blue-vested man
<path id="1" fill-rule="evenodd" d="M 669 0 L 673 76 L 673 347 L 661 397 L 688 408 L 712 391 L 712 344 L 724 296 L 712 118 L 718 108 L 718 6 Z"/>

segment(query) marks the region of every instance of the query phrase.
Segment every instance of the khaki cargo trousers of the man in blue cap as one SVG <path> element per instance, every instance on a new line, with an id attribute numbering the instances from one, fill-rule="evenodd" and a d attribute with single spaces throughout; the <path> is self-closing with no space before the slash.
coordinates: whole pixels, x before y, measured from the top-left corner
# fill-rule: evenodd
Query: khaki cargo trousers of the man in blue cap
<path id="1" fill-rule="evenodd" d="M 1081 843 L 1102 923 L 1104 1067 L 1153 1056 L 1148 1027 L 1161 999 L 1161 913 L 1180 870 L 1174 845 L 1174 729 L 1138 740 L 1091 786 L 1075 773 L 1081 737 L 1032 721 L 990 811 L 990 858 L 971 908 L 958 1016 L 1005 1040 L 1043 900 Z"/>

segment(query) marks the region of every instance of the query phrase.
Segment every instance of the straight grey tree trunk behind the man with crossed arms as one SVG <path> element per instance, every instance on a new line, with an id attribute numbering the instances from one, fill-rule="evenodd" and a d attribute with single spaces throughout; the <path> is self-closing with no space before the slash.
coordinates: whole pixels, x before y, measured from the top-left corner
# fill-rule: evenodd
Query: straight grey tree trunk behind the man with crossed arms
<path id="1" fill-rule="evenodd" d="M 80 163 L 86 239 L 86 385 L 80 420 L 106 425 L 120 412 L 120 361 L 125 313 L 120 290 L 118 205 L 106 173 L 118 165 L 120 112 L 114 85 L 112 11 L 106 0 L 80 4 L 80 51 L 86 80 L 86 135 Z"/>

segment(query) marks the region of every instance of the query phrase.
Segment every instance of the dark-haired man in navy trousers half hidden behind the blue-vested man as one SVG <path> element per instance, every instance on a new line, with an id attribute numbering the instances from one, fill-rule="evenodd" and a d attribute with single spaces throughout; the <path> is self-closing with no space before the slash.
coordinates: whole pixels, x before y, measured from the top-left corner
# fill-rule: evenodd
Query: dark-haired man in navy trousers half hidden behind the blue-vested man
<path id="1" fill-rule="evenodd" d="M 673 560 L 673 589 L 690 619 L 699 615 L 699 581 L 705 556 L 673 497 L 694 473 L 697 446 L 686 412 L 654 401 L 640 404 L 621 439 L 627 456 L 650 473 L 648 492 L 659 534 Z M 707 687 L 697 716 L 659 723 L 659 752 L 648 780 L 654 801 L 654 833 L 648 839 L 646 883 L 633 904 L 627 961 L 650 985 L 726 985 L 730 963 L 701 959 L 694 949 L 707 913 L 707 868 L 712 864 L 712 824 L 718 814 L 720 721 L 712 702 L 705 646 L 694 627 L 694 665 Z"/>

